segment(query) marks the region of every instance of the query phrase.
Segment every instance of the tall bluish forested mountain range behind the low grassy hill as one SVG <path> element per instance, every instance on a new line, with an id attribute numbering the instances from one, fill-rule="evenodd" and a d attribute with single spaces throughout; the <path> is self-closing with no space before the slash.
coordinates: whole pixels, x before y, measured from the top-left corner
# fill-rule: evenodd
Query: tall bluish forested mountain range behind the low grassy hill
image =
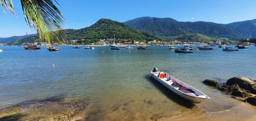
<path id="1" fill-rule="evenodd" d="M 240 40 L 256 36 L 255 20 L 216 24 L 213 22 L 178 22 L 172 18 L 140 17 L 128 20 L 124 24 L 143 32 L 149 32 L 160 38 L 181 34 L 203 34 L 214 38 Z"/>

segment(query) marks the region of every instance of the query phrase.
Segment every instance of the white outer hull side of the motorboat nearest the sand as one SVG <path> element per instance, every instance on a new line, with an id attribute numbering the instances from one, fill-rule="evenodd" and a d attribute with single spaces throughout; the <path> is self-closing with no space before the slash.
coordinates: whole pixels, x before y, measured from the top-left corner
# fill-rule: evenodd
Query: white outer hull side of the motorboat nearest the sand
<path id="1" fill-rule="evenodd" d="M 156 81 L 158 81 L 159 83 L 164 85 L 166 88 L 168 88 L 170 91 L 172 91 L 173 93 L 175 93 L 176 95 L 179 95 L 180 97 L 182 97 L 184 99 L 187 99 L 194 103 L 201 103 L 202 101 L 205 101 L 206 99 L 208 99 L 208 98 L 194 97 L 194 96 L 188 95 L 186 93 L 181 93 L 179 90 L 175 89 L 174 87 L 172 87 L 171 85 L 169 85 L 168 83 L 166 83 L 165 81 L 161 80 L 159 77 L 154 75 L 152 72 L 150 74 L 151 74 L 151 77 L 156 79 Z"/>

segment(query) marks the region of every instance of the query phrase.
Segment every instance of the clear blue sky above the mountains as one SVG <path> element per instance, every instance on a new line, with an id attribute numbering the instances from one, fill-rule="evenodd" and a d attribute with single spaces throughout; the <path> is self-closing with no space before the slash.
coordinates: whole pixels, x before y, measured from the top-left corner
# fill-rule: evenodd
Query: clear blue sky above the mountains
<path id="1" fill-rule="evenodd" d="M 20 0 L 13 0 L 16 15 L 0 8 L 0 37 L 35 33 L 28 29 Z M 125 22 L 142 16 L 183 22 L 221 24 L 256 19 L 256 0 L 59 0 L 64 28 L 79 29 L 100 18 Z"/>

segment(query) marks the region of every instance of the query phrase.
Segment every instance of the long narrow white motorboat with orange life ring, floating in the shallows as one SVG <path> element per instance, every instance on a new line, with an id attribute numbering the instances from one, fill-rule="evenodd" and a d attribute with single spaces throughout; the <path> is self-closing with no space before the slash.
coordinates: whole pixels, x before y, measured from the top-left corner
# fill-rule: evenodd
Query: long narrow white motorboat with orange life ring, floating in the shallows
<path id="1" fill-rule="evenodd" d="M 208 97 L 201 91 L 198 91 L 190 85 L 187 85 L 186 83 L 172 77 L 171 75 L 168 75 L 164 71 L 158 71 L 157 68 L 154 68 L 150 72 L 150 75 L 162 85 L 170 89 L 170 91 L 184 99 L 187 99 L 194 103 L 201 103 L 202 101 L 210 99 L 210 97 Z"/>

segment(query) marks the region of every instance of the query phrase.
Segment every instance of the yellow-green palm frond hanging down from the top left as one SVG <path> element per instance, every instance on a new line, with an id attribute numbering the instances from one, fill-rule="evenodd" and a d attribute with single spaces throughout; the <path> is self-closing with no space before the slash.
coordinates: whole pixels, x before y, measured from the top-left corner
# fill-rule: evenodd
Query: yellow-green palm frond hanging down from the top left
<path id="1" fill-rule="evenodd" d="M 20 0 L 24 18 L 30 29 L 34 28 L 38 32 L 40 42 L 64 42 L 66 32 L 64 17 L 60 10 L 54 5 L 57 0 Z M 15 14 L 12 0 L 0 0 L 4 11 Z M 59 5 L 59 4 L 58 4 Z"/>

